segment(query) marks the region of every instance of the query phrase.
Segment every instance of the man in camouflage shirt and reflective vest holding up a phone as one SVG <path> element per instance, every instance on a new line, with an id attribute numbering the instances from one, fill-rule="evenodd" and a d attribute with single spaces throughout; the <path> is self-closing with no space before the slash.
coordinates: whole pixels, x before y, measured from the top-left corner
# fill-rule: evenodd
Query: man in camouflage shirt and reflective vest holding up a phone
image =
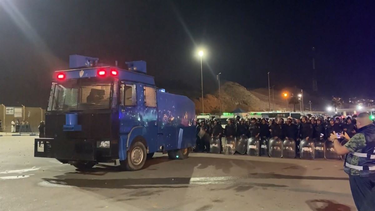
<path id="1" fill-rule="evenodd" d="M 341 137 L 349 140 L 344 146 L 338 141 L 335 131 L 330 135 L 339 155 L 347 154 L 344 171 L 349 175 L 350 189 L 358 211 L 375 208 L 375 125 L 368 113 L 357 116 L 357 134 Z"/>

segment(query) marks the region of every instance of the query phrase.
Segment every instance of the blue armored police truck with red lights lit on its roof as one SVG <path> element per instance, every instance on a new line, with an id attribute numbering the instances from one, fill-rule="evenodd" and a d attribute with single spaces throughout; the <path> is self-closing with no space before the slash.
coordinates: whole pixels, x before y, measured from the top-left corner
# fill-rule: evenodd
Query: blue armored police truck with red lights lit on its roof
<path id="1" fill-rule="evenodd" d="M 126 170 L 141 169 L 154 152 L 187 158 L 196 138 L 193 102 L 158 89 L 144 61 L 120 69 L 98 60 L 71 55 L 70 69 L 54 72 L 34 157 L 78 169 L 119 160 Z"/>

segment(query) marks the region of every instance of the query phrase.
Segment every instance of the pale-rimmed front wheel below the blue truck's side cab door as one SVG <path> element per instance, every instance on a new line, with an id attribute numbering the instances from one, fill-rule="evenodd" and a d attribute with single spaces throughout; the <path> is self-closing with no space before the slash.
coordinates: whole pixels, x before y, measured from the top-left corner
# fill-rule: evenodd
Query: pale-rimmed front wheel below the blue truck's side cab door
<path id="1" fill-rule="evenodd" d="M 136 141 L 127 151 L 126 160 L 120 161 L 121 168 L 128 171 L 142 169 L 146 161 L 146 147 L 142 142 Z"/>

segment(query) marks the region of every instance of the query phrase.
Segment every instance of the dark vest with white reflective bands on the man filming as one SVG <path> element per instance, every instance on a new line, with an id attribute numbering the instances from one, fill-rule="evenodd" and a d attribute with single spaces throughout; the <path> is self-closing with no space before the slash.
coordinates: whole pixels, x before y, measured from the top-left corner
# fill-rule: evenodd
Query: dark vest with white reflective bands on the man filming
<path id="1" fill-rule="evenodd" d="M 344 166 L 359 170 L 361 176 L 369 176 L 369 174 L 375 174 L 375 125 L 366 125 L 360 128 L 358 133 L 365 135 L 366 146 L 360 152 L 350 152 L 347 154 Z M 359 158 L 358 165 L 347 162 L 347 160 L 353 160 L 354 157 Z"/>

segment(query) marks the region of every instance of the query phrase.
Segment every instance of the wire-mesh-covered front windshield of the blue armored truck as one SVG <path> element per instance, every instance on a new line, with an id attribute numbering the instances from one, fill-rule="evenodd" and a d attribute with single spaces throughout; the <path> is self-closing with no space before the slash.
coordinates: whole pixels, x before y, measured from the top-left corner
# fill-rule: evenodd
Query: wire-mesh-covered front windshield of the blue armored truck
<path id="1" fill-rule="evenodd" d="M 111 106 L 111 87 L 111 81 L 97 78 L 52 83 L 48 110 L 108 109 Z"/>

